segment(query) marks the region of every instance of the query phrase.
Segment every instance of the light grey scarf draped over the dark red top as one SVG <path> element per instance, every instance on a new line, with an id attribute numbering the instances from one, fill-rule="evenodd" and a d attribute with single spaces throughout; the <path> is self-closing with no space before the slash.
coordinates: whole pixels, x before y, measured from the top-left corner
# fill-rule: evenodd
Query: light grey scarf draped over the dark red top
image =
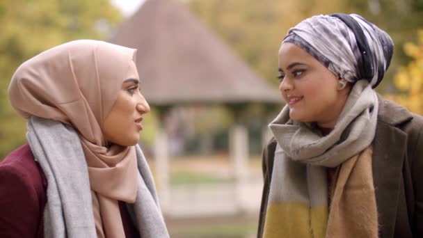
<path id="1" fill-rule="evenodd" d="M 70 125 L 33 116 L 26 136 L 48 183 L 45 237 L 97 237 L 88 166 L 77 132 Z M 135 203 L 127 206 L 129 214 L 141 237 L 169 237 L 150 168 L 138 145 L 136 157 L 138 189 Z"/>

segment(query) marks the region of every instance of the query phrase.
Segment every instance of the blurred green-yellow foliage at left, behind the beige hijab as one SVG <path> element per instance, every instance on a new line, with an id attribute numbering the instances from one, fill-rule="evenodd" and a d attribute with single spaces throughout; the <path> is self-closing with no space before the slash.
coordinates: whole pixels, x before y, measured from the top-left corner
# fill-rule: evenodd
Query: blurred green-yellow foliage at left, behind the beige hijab
<path id="1" fill-rule="evenodd" d="M 0 160 L 25 143 L 25 121 L 7 97 L 17 66 L 69 40 L 104 39 L 121 19 L 108 0 L 0 0 Z"/>

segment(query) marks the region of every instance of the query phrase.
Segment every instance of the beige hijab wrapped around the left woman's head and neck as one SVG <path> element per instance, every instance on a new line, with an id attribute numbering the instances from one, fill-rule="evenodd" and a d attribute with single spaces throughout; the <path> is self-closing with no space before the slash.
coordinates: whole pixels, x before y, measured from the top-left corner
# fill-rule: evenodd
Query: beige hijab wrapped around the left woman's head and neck
<path id="1" fill-rule="evenodd" d="M 75 40 L 24 62 L 9 86 L 13 108 L 72 125 L 88 164 L 98 237 L 125 237 L 118 200 L 134 203 L 137 166 L 134 146 L 106 147 L 102 133 L 136 49 L 96 40 Z M 132 67 L 131 67 L 132 66 Z"/>

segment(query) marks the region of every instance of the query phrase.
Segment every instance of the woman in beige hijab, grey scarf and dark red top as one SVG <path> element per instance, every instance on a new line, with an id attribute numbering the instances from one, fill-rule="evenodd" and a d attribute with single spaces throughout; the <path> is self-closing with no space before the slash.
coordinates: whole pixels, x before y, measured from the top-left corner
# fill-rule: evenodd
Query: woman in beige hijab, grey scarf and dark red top
<path id="1" fill-rule="evenodd" d="M 135 53 L 76 40 L 17 69 L 29 144 L 0 164 L 0 237 L 168 237 L 137 145 L 150 107 Z"/>

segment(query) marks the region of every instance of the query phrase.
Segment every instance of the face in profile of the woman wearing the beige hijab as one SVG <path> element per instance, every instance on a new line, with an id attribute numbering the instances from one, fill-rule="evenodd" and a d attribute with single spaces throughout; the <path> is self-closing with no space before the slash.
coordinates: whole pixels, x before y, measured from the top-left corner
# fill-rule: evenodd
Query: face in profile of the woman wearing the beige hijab
<path id="1" fill-rule="evenodd" d="M 141 95 L 138 72 L 132 62 L 118 98 L 104 119 L 103 134 L 106 140 L 122 146 L 138 143 L 139 132 L 143 129 L 143 114 L 149 111 L 150 106 Z"/>

